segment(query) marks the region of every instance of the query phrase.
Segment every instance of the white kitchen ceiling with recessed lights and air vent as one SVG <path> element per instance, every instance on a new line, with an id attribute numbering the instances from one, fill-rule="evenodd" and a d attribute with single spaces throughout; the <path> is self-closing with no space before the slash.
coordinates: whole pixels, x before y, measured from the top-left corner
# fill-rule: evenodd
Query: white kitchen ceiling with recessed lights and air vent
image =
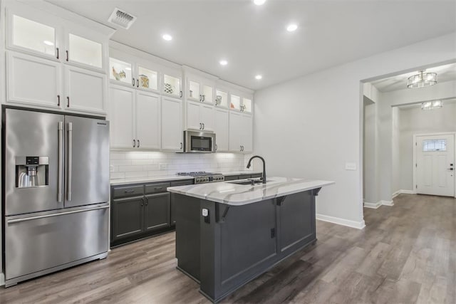
<path id="1" fill-rule="evenodd" d="M 138 20 L 113 40 L 252 89 L 456 31 L 456 1 L 49 1 L 106 25 L 123 9 Z"/>

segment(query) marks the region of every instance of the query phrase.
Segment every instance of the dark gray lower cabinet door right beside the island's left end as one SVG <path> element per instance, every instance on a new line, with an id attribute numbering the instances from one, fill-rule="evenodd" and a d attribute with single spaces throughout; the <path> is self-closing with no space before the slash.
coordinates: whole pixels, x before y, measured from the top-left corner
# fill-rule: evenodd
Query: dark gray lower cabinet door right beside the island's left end
<path id="1" fill-rule="evenodd" d="M 170 193 L 145 196 L 144 229 L 154 231 L 170 226 Z"/>

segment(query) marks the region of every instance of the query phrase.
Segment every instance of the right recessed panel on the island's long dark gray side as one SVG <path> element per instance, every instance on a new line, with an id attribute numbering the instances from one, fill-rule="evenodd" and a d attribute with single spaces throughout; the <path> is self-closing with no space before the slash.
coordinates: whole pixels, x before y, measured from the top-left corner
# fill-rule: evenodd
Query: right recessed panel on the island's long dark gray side
<path id="1" fill-rule="evenodd" d="M 277 198 L 278 246 L 288 256 L 316 241 L 315 196 L 313 191 Z"/>

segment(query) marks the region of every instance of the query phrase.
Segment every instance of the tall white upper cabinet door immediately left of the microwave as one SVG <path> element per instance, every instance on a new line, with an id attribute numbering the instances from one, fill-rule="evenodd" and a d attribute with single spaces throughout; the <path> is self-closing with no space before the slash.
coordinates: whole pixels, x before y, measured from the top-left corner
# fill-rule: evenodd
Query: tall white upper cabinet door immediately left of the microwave
<path id="1" fill-rule="evenodd" d="M 162 150 L 183 151 L 182 100 L 162 97 Z"/>

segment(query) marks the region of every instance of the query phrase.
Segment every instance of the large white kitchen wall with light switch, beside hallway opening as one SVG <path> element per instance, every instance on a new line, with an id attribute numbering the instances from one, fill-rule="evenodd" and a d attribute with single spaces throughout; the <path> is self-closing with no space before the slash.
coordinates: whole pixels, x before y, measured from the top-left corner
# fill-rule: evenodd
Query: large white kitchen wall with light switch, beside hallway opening
<path id="1" fill-rule="evenodd" d="M 254 152 L 265 157 L 270 176 L 335 181 L 320 192 L 317 213 L 361 227 L 360 81 L 454 60 L 456 33 L 259 90 L 255 94 Z M 346 162 L 356 162 L 359 171 L 345 170 Z"/>

